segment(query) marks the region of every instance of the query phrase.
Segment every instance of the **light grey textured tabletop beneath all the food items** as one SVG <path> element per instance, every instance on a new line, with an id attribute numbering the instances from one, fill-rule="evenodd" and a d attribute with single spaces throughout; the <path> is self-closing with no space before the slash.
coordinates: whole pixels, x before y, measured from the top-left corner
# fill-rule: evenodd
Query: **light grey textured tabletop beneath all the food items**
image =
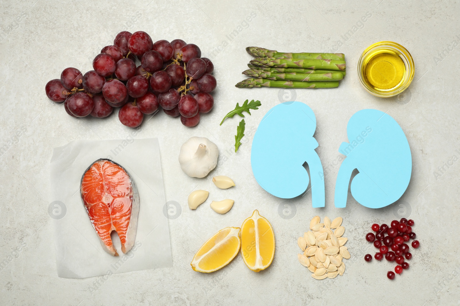
<path id="1" fill-rule="evenodd" d="M 0 261 L 7 260 L 0 269 L 0 305 L 459 304 L 458 2 L 4 0 L 0 7 Z M 362 22 L 366 14 L 370 17 Z M 121 125 L 116 111 L 104 120 L 71 118 L 63 105 L 46 98 L 44 87 L 65 67 L 91 70 L 94 56 L 122 30 L 146 31 L 154 41 L 179 38 L 199 45 L 215 66 L 215 106 L 195 128 L 162 111 L 146 116 L 134 137 L 159 139 L 166 199 L 181 208 L 169 220 L 173 267 L 107 278 L 58 278 L 48 214 L 54 200 L 52 149 L 75 139 L 126 139 L 132 129 Z M 398 98 L 374 97 L 357 78 L 362 51 L 381 40 L 402 44 L 414 57 L 414 81 Z M 316 114 L 316 151 L 327 173 L 325 208 L 313 209 L 310 193 L 278 199 L 253 178 L 253 134 L 265 112 L 283 102 L 286 93 L 234 87 L 250 60 L 247 46 L 345 53 L 347 75 L 339 88 L 295 91 L 295 100 Z M 235 153 L 239 117 L 219 123 L 236 102 L 246 99 L 260 100 L 262 107 L 246 116 L 245 141 Z M 391 206 L 368 209 L 349 195 L 346 208 L 335 208 L 338 147 L 347 140 L 348 119 L 365 108 L 387 112 L 403 128 L 412 150 L 412 179 Z M 219 165 L 207 178 L 190 178 L 179 167 L 180 146 L 191 136 L 207 137 L 219 146 Z M 217 189 L 213 175 L 230 176 L 236 187 Z M 186 198 L 194 189 L 211 194 L 191 211 Z M 210 200 L 224 198 L 234 199 L 235 205 L 218 215 L 209 208 Z M 190 261 L 202 243 L 221 228 L 241 226 L 254 209 L 275 231 L 271 266 L 254 273 L 238 256 L 218 272 L 194 272 Z M 364 236 L 372 223 L 390 223 L 398 213 L 415 220 L 421 246 L 412 252 L 410 269 L 390 281 L 386 272 L 394 263 L 363 260 L 366 253 L 374 254 Z M 296 239 L 315 215 L 344 218 L 352 258 L 343 277 L 316 281 L 297 260 Z"/>

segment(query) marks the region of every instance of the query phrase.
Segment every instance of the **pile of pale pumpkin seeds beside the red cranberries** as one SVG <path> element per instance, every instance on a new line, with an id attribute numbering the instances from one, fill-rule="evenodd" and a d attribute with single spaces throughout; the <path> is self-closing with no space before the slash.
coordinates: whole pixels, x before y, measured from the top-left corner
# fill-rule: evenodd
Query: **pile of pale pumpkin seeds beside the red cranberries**
<path id="1" fill-rule="evenodd" d="M 311 276 L 316 279 L 335 278 L 345 272 L 344 259 L 350 259 L 350 253 L 345 245 L 347 238 L 342 237 L 345 228 L 342 218 L 333 221 L 328 217 L 320 223 L 320 217 L 311 219 L 310 230 L 304 237 L 297 239 L 297 244 L 303 254 L 297 254 L 299 262 L 307 267 Z M 334 230 L 334 231 L 333 231 Z"/>

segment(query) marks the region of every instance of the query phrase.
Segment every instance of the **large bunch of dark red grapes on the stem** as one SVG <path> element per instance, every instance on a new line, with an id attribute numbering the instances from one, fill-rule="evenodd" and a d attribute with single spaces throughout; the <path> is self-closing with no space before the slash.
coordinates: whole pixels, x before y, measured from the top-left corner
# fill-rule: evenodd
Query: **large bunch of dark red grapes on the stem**
<path id="1" fill-rule="evenodd" d="M 182 39 L 153 43 L 145 32 L 123 31 L 116 35 L 114 45 L 104 47 L 94 58 L 92 67 L 85 75 L 65 68 L 60 79 L 46 84 L 46 95 L 64 102 L 72 117 L 103 118 L 121 107 L 118 118 L 131 128 L 160 106 L 167 115 L 180 116 L 182 124 L 194 127 L 200 113 L 211 111 L 214 105 L 210 95 L 216 88 L 213 63 L 201 57 L 197 45 Z"/>

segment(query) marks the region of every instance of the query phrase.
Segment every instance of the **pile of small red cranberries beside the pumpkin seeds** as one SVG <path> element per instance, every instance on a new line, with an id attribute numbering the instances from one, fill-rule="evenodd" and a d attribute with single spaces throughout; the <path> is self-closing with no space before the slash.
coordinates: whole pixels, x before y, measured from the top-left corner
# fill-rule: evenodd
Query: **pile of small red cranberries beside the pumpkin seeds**
<path id="1" fill-rule="evenodd" d="M 412 254 L 409 252 L 410 248 L 406 242 L 409 239 L 415 239 L 415 233 L 412 231 L 414 220 L 402 218 L 400 221 L 391 221 L 390 227 L 386 224 L 379 225 L 377 223 L 372 224 L 372 230 L 374 233 L 366 234 L 366 240 L 374 242 L 374 246 L 379 249 L 375 253 L 374 258 L 378 261 L 385 259 L 387 261 L 396 261 L 397 266 L 395 272 L 399 275 L 403 273 L 403 270 L 409 268 L 409 263 L 404 261 L 404 258 L 409 260 L 412 258 Z M 385 236 L 387 234 L 387 236 Z M 417 249 L 420 246 L 419 240 L 412 241 L 412 247 Z M 390 250 L 391 248 L 391 250 Z M 365 261 L 371 261 L 372 255 L 366 254 L 364 256 Z M 386 277 L 390 279 L 395 278 L 393 271 L 388 271 Z"/>

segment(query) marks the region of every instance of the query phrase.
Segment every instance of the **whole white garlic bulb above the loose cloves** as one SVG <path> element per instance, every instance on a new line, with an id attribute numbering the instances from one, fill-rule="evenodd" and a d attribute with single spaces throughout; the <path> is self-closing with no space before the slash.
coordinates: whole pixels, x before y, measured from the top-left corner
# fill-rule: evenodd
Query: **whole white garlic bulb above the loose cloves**
<path id="1" fill-rule="evenodd" d="M 204 178 L 217 165 L 219 148 L 205 137 L 191 137 L 180 148 L 182 171 L 193 178 Z"/>

